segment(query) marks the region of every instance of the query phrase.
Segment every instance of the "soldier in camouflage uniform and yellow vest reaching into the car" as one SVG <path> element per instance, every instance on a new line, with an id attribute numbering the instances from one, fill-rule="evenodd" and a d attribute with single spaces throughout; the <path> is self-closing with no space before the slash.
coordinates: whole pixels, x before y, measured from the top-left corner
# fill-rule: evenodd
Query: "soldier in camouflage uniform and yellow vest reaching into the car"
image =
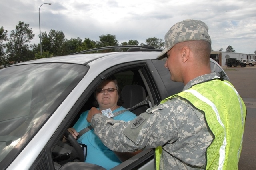
<path id="1" fill-rule="evenodd" d="M 238 169 L 246 107 L 228 81 L 210 69 L 211 39 L 200 20 L 174 24 L 165 35 L 171 80 L 183 82 L 170 96 L 131 122 L 102 116 L 92 108 L 87 121 L 111 150 L 156 148 L 156 169 Z"/>

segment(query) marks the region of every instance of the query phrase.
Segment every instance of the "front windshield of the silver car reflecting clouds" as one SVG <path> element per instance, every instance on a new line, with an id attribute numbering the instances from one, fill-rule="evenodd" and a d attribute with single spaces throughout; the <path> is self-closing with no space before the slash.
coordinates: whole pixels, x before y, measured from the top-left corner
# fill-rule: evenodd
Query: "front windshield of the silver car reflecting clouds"
<path id="1" fill-rule="evenodd" d="M 63 63 L 0 70 L 0 162 L 22 150 L 86 71 L 84 65 Z"/>

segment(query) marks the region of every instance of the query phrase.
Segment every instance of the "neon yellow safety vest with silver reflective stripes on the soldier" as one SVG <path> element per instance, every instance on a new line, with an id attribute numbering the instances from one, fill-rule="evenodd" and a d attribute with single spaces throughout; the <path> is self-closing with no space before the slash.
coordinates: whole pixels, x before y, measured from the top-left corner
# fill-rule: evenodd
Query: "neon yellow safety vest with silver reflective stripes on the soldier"
<path id="1" fill-rule="evenodd" d="M 234 86 L 228 81 L 214 79 L 170 96 L 161 104 L 174 97 L 186 100 L 204 114 L 206 125 L 213 135 L 212 143 L 206 149 L 205 169 L 238 169 L 246 106 Z M 162 147 L 158 146 L 155 153 L 156 170 L 159 170 L 161 153 Z"/>

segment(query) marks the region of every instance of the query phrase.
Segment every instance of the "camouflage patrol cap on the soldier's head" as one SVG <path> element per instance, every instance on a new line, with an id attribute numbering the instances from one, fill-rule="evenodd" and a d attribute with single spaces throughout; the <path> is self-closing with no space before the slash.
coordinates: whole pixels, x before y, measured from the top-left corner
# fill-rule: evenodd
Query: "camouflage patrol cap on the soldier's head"
<path id="1" fill-rule="evenodd" d="M 174 24 L 165 34 L 165 49 L 156 58 L 163 60 L 167 57 L 166 53 L 177 43 L 204 40 L 211 44 L 211 38 L 208 34 L 208 26 L 200 20 L 184 20 Z"/>

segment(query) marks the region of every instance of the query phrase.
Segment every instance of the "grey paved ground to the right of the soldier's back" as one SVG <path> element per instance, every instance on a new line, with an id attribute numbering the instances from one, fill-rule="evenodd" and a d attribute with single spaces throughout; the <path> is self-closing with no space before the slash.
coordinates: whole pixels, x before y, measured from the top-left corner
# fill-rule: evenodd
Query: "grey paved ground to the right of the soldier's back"
<path id="1" fill-rule="evenodd" d="M 247 108 L 239 170 L 256 170 L 256 66 L 224 68 Z"/>

